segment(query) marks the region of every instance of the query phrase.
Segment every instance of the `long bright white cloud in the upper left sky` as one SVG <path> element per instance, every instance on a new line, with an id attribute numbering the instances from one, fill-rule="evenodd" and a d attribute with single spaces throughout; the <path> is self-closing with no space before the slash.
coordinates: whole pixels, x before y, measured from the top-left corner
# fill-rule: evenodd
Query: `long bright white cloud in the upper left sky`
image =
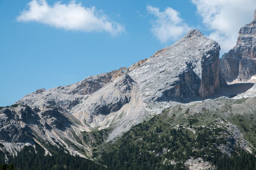
<path id="1" fill-rule="evenodd" d="M 22 11 L 17 20 L 20 22 L 40 22 L 52 27 L 66 30 L 101 32 L 118 34 L 124 27 L 108 20 L 108 17 L 95 7 L 84 8 L 81 3 L 70 1 L 68 4 L 60 2 L 49 5 L 45 0 L 33 0 Z"/>

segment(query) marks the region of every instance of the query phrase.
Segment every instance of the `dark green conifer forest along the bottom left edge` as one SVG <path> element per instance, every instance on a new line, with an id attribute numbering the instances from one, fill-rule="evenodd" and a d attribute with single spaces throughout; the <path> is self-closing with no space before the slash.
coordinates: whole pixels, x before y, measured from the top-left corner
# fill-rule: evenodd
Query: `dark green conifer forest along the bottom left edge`
<path id="1" fill-rule="evenodd" d="M 45 155 L 44 149 L 38 145 L 25 146 L 24 149 L 15 157 L 9 157 L 9 165 L 4 164 L 4 153 L 0 152 L 0 166 L 3 169 L 10 169 L 12 165 L 15 169 L 106 169 L 104 166 L 95 164 L 91 160 L 81 158 L 79 156 L 72 156 L 65 153 L 63 148 L 58 150 L 56 155 Z"/>

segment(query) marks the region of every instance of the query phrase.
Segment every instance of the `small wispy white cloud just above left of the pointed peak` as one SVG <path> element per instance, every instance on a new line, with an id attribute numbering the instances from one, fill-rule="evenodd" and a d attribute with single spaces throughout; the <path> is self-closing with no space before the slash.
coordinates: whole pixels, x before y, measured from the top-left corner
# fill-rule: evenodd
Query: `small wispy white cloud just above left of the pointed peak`
<path id="1" fill-rule="evenodd" d="M 152 22 L 151 31 L 162 43 L 166 43 L 169 40 L 177 40 L 190 29 L 179 17 L 179 12 L 170 7 L 163 12 L 153 6 L 147 6 L 147 10 L 157 18 Z"/>

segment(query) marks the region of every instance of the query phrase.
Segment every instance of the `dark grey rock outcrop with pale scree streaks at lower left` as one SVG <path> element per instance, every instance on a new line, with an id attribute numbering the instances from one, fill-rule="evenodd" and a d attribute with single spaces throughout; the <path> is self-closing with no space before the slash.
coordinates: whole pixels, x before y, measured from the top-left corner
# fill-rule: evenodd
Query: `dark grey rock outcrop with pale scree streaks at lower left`
<path id="1" fill-rule="evenodd" d="M 74 143 L 86 150 L 87 146 L 78 142 L 81 137 L 76 136 L 80 125 L 81 123 L 76 118 L 62 108 L 52 107 L 39 110 L 21 104 L 3 108 L 0 110 L 0 143 L 5 149 L 2 151 L 15 154 L 23 146 L 37 143 L 43 148 L 51 148 L 55 145 L 67 146 L 70 152 L 80 154 L 67 145 L 67 143 Z M 46 148 L 45 150 L 47 151 Z"/>

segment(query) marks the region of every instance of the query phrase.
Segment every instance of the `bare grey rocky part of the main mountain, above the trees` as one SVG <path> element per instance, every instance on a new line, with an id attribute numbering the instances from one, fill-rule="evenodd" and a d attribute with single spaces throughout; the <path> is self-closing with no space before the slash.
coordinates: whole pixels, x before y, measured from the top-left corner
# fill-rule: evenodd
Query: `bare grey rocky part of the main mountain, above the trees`
<path id="1" fill-rule="evenodd" d="M 10 108 L 1 108 L 0 148 L 17 153 L 37 143 L 49 153 L 63 146 L 91 157 L 95 143 L 114 139 L 165 108 L 212 96 L 225 84 L 219 52 L 216 41 L 191 30 L 129 68 L 36 90 Z"/>

